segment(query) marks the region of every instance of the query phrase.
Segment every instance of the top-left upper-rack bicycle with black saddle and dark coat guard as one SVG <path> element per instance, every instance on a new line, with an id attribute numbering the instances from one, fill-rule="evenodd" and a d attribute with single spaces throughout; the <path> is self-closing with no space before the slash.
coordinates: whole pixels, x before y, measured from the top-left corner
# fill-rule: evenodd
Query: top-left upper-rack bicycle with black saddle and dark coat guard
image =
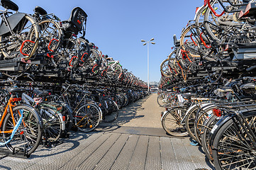
<path id="1" fill-rule="evenodd" d="M 2 0 L 0 10 L 2 18 L 0 47 L 1 60 L 28 61 L 35 54 L 39 43 L 40 30 L 35 19 L 27 13 L 9 12 L 18 11 L 18 6 L 10 0 Z M 9 16 L 9 14 L 12 14 Z"/>

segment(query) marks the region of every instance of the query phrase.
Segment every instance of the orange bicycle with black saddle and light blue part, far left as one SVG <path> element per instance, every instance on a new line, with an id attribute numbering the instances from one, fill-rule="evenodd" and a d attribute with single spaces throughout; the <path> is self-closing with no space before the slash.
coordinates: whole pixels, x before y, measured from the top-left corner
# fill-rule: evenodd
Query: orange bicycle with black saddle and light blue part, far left
<path id="1" fill-rule="evenodd" d="M 29 157 L 40 144 L 43 122 L 35 108 L 20 103 L 21 94 L 26 89 L 11 88 L 7 91 L 11 97 L 8 100 L 8 96 L 1 98 L 7 102 L 0 117 L 0 145 L 6 145 L 13 154 L 21 152 Z"/>

